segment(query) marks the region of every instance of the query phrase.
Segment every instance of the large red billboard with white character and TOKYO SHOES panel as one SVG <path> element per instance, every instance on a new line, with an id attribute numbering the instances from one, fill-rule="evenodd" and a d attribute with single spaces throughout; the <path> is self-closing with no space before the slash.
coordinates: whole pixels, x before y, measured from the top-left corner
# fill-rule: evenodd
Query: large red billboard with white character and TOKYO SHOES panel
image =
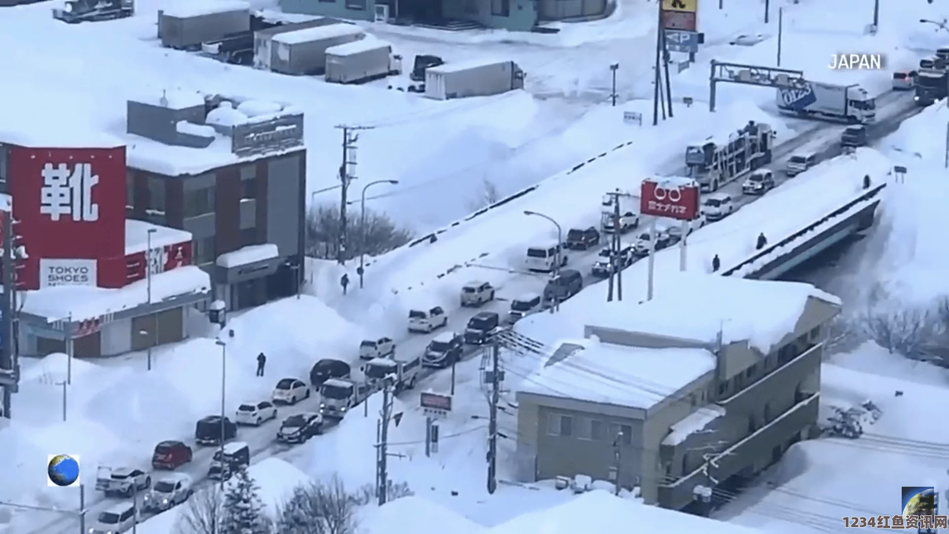
<path id="1" fill-rule="evenodd" d="M 125 147 L 11 146 L 24 289 L 125 285 Z"/>

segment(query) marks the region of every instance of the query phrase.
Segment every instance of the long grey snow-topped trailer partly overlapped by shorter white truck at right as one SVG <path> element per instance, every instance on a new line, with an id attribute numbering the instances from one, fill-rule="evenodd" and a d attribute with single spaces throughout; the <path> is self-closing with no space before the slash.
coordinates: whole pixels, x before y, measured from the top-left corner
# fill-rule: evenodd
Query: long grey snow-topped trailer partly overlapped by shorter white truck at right
<path id="1" fill-rule="evenodd" d="M 323 74 L 326 48 L 359 41 L 364 36 L 363 29 L 354 24 L 332 24 L 277 33 L 270 37 L 270 54 L 260 58 L 260 63 L 282 74 Z"/>

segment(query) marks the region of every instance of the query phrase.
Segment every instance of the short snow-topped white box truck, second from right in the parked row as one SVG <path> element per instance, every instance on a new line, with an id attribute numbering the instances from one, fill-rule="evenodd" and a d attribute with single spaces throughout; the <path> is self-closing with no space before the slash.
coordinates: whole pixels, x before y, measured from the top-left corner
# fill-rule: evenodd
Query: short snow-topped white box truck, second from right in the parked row
<path id="1" fill-rule="evenodd" d="M 392 45 L 379 39 L 365 38 L 326 48 L 326 81 L 335 84 L 360 84 L 399 74 L 402 58 L 392 53 Z"/>

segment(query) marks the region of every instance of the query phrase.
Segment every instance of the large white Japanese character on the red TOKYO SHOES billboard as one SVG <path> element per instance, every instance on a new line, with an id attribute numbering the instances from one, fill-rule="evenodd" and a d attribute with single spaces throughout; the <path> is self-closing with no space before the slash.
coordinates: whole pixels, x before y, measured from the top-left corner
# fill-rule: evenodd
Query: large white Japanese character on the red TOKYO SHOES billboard
<path id="1" fill-rule="evenodd" d="M 99 220 L 99 204 L 92 200 L 92 188 L 99 183 L 99 175 L 92 173 L 92 163 L 46 163 L 40 171 L 43 187 L 40 189 L 40 213 L 58 221 L 69 216 L 74 221 Z"/>

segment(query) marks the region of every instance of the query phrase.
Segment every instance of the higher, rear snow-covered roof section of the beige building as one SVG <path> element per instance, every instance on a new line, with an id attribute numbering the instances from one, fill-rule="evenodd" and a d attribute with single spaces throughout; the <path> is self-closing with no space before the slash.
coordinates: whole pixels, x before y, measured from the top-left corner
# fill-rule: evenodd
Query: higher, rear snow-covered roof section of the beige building
<path id="1" fill-rule="evenodd" d="M 794 327 L 809 298 L 840 305 L 840 299 L 803 282 L 676 273 L 652 300 L 600 302 L 586 309 L 586 324 L 715 343 L 747 340 L 762 353 Z M 562 305 L 563 307 L 563 305 Z"/>

